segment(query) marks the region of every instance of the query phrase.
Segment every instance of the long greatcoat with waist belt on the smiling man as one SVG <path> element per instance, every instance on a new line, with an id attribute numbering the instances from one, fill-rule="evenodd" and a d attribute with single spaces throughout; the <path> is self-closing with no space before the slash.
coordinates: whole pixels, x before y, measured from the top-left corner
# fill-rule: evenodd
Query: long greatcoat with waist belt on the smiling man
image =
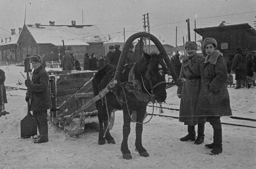
<path id="1" fill-rule="evenodd" d="M 204 62 L 205 57 L 195 54 L 191 59 L 189 56 L 182 61 L 180 76 L 181 78 L 200 76 L 200 65 Z M 194 75 L 189 71 L 189 69 Z M 200 92 L 201 78 L 186 80 L 182 88 L 178 87 L 177 94 L 181 94 L 179 121 L 184 122 L 185 125 L 194 126 L 196 124 L 205 123 L 202 117 L 196 117 L 196 106 Z"/>

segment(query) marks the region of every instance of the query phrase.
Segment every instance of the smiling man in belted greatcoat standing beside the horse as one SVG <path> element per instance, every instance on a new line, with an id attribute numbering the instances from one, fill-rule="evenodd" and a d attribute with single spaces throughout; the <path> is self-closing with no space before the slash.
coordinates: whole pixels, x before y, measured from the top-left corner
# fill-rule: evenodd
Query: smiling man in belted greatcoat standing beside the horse
<path id="1" fill-rule="evenodd" d="M 178 87 L 177 96 L 180 100 L 179 121 L 187 125 L 188 134 L 180 138 L 180 141 L 194 141 L 194 144 L 201 144 L 204 141 L 205 118 L 196 116 L 196 106 L 200 92 L 201 76 L 200 65 L 204 57 L 196 53 L 197 44 L 188 41 L 185 44 L 187 57 L 182 61 L 179 79 L 184 83 Z M 198 124 L 198 136 L 195 137 L 195 125 Z"/>

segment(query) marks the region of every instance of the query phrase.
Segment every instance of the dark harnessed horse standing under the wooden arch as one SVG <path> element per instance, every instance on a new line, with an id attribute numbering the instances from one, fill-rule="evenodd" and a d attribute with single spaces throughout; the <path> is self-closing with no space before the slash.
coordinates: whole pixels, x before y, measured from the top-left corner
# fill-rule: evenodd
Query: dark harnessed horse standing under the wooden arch
<path id="1" fill-rule="evenodd" d="M 124 124 L 121 152 L 123 153 L 123 158 L 131 159 L 132 156 L 128 149 L 127 141 L 131 130 L 131 114 L 133 111 L 136 111 L 136 151 L 141 156 L 149 156 L 146 149 L 142 146 L 144 115 L 149 102 L 157 101 L 162 103 L 165 101 L 165 74 L 167 70 L 163 55 L 149 55 L 146 53 L 144 53 L 140 61 L 124 67 L 116 89 L 107 93 L 104 98 L 96 101 L 100 126 L 99 144 L 105 144 L 105 140 L 108 143 L 115 144 L 114 138 L 110 135 L 109 129 L 107 129 L 107 112 L 111 114 L 113 109 L 123 110 Z M 114 77 L 115 71 L 116 67 L 108 64 L 96 73 L 92 81 L 95 96 L 108 85 Z M 105 131 L 106 129 L 107 131 Z"/>

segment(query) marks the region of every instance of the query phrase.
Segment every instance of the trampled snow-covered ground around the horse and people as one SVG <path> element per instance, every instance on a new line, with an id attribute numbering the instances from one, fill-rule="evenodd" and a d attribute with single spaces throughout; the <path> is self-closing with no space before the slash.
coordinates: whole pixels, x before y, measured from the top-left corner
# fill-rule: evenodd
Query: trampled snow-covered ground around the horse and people
<path id="1" fill-rule="evenodd" d="M 24 67 L 1 66 L 6 75 L 5 86 L 26 89 Z M 50 69 L 46 69 L 50 70 Z M 24 76 L 25 73 L 23 73 Z M 167 77 L 168 78 L 168 77 Z M 22 85 L 16 85 L 18 80 Z M 235 78 L 234 78 L 235 79 Z M 235 82 L 235 80 L 234 80 Z M 179 99 L 177 86 L 167 89 L 166 103 L 162 104 L 162 115 L 178 117 Z M 234 90 L 228 87 L 233 116 L 256 119 L 256 87 Z M 131 124 L 128 146 L 132 159 L 125 160 L 120 152 L 122 141 L 122 111 L 115 113 L 115 124 L 111 135 L 116 144 L 98 144 L 98 126 L 89 123 L 80 137 L 70 137 L 63 129 L 49 121 L 49 142 L 35 144 L 32 138 L 20 138 L 20 121 L 27 112 L 26 90 L 9 90 L 10 112 L 0 117 L 0 168 L 256 168 L 256 121 L 237 120 L 222 117 L 223 152 L 209 155 L 204 144 L 212 143 L 213 130 L 205 125 L 205 140 L 200 145 L 181 142 L 187 134 L 186 126 L 172 117 L 153 116 L 144 124 L 143 145 L 150 154 L 141 157 L 135 151 L 135 123 Z M 147 108 L 152 113 L 152 107 Z M 159 109 L 154 109 L 159 114 Z M 146 121 L 150 118 L 147 116 Z M 227 125 L 229 123 L 230 125 Z M 236 124 L 232 125 L 232 124 Z M 239 126 L 240 125 L 240 126 Z M 251 127 L 244 127 L 251 126 Z M 252 128 L 254 127 L 254 128 Z"/>

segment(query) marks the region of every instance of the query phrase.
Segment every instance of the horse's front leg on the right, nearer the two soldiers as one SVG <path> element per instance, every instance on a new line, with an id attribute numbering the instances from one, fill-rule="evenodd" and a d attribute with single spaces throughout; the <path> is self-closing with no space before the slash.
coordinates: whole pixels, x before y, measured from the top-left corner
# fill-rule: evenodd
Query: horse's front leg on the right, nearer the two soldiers
<path id="1" fill-rule="evenodd" d="M 141 156 L 148 157 L 149 154 L 147 153 L 146 149 L 142 146 L 143 119 L 144 119 L 145 113 L 146 113 L 146 106 L 143 106 L 137 109 L 135 147 L 136 147 L 136 151 L 138 151 Z"/>

